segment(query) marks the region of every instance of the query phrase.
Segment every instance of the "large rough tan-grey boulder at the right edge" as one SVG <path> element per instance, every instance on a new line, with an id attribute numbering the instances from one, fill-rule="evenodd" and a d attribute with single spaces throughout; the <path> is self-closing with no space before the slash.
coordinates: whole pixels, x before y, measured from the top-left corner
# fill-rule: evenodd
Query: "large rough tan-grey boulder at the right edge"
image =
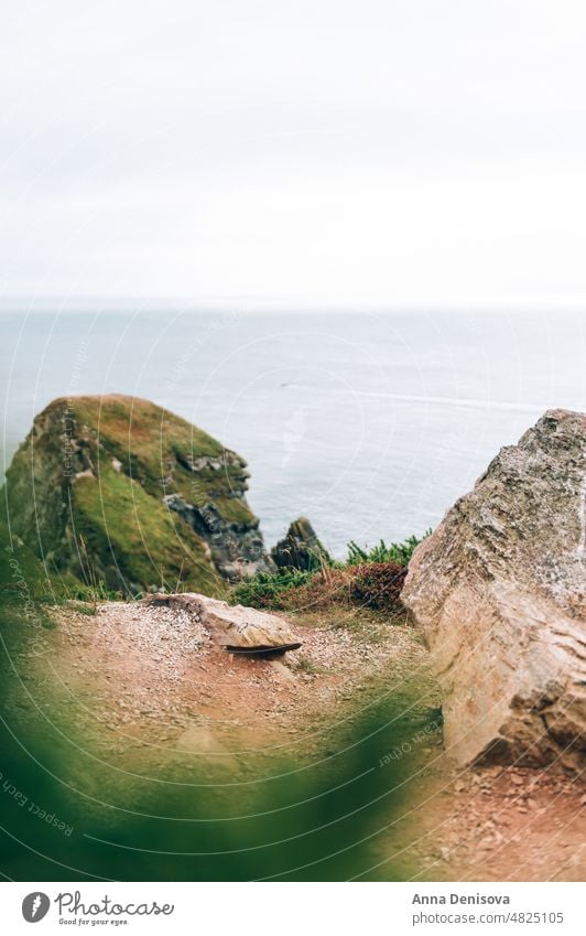
<path id="1" fill-rule="evenodd" d="M 460 763 L 584 766 L 585 497 L 586 416 L 552 410 L 413 555 L 402 600 Z"/>

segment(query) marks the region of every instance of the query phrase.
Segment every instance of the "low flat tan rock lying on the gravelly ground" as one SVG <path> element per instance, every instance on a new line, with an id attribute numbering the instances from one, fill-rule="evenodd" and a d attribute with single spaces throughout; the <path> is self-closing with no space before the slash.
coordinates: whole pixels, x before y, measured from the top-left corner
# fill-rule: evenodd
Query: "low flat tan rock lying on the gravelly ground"
<path id="1" fill-rule="evenodd" d="M 301 647 L 287 622 L 254 607 L 230 605 L 203 594 L 185 593 L 148 599 L 150 604 L 187 611 L 219 646 L 247 653 L 278 654 Z"/>

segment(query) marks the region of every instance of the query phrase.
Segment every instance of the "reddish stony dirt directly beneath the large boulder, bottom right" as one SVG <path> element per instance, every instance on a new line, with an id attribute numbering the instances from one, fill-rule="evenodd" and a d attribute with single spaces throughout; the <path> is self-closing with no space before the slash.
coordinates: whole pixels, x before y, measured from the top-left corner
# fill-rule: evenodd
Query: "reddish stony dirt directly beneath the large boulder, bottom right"
<path id="1" fill-rule="evenodd" d="M 403 852 L 421 869 L 415 880 L 584 881 L 585 806 L 579 777 L 519 767 L 460 771 L 441 753 L 419 783 L 413 815 L 378 842 L 382 864 L 373 876 Z"/>

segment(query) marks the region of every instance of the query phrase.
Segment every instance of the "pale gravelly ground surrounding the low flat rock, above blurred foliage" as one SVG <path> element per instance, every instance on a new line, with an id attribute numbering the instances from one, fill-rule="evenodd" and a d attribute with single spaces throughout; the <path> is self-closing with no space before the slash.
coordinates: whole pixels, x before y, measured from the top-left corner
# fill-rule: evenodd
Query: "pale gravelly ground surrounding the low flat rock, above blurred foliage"
<path id="1" fill-rule="evenodd" d="M 120 752 L 140 741 L 210 759 L 217 752 L 218 763 L 225 749 L 294 746 L 311 755 L 382 675 L 397 686 L 421 679 L 421 707 L 438 703 L 412 631 L 375 617 L 360 625 L 346 615 L 334 627 L 297 618 L 303 646 L 283 660 L 228 654 L 186 612 L 167 607 L 110 602 L 95 616 L 63 610 L 58 620 L 45 666 L 77 701 L 90 691 L 87 717 Z"/>

